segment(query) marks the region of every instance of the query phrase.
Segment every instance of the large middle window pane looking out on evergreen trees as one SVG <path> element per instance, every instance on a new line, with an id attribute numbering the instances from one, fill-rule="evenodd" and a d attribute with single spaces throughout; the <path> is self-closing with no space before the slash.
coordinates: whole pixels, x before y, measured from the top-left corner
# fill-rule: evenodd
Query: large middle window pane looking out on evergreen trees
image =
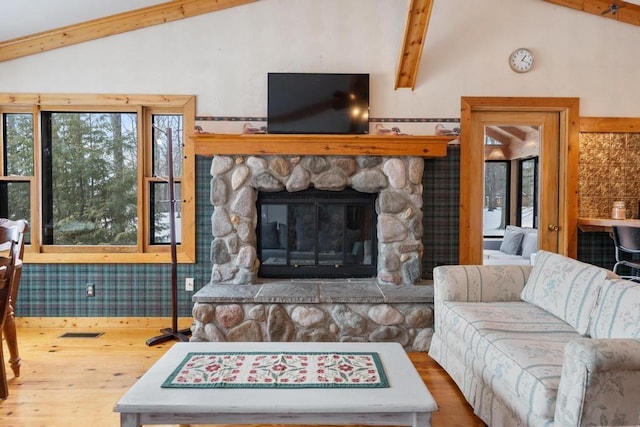
<path id="1" fill-rule="evenodd" d="M 42 243 L 135 246 L 135 113 L 42 116 Z"/>

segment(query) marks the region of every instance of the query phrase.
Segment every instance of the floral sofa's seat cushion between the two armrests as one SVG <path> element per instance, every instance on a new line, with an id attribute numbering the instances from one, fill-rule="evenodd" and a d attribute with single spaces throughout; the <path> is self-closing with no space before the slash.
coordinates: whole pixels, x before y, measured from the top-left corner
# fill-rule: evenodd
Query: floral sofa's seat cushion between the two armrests
<path id="1" fill-rule="evenodd" d="M 494 394 L 518 412 L 553 419 L 564 347 L 580 337 L 575 329 L 524 302 L 443 302 L 437 319 L 446 346 L 473 353 L 475 375 Z"/>

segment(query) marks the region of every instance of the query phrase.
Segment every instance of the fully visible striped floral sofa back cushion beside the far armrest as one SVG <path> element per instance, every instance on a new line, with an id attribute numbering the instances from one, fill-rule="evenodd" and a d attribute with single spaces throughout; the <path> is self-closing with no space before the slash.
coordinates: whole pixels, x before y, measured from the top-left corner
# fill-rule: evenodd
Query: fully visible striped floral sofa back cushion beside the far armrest
<path id="1" fill-rule="evenodd" d="M 606 276 L 603 268 L 541 250 L 520 297 L 586 335 Z"/>

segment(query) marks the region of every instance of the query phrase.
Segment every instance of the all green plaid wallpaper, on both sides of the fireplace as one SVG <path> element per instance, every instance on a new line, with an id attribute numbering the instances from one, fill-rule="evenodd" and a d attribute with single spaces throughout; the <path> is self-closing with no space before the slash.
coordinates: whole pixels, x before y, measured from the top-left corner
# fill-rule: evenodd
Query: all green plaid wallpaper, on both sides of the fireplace
<path id="1" fill-rule="evenodd" d="M 182 290 L 185 277 L 196 290 L 211 275 L 211 158 L 196 158 L 197 264 L 178 266 L 178 316 L 190 317 L 193 293 Z M 422 277 L 433 267 L 458 262 L 460 150 L 425 160 L 424 256 Z M 613 243 L 604 233 L 579 233 L 578 259 L 611 268 Z M 163 264 L 27 264 L 22 273 L 16 315 L 20 317 L 169 317 L 171 266 Z M 96 296 L 86 296 L 86 284 Z"/>

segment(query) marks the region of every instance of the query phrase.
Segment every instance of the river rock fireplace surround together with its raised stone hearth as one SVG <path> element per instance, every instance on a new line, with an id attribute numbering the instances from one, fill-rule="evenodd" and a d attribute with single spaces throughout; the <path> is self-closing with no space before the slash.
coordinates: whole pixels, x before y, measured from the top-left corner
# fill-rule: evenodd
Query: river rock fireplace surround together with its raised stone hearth
<path id="1" fill-rule="evenodd" d="M 412 156 L 214 156 L 211 281 L 193 297 L 192 341 L 395 341 L 426 351 L 433 292 L 421 281 L 423 170 Z M 259 277 L 258 195 L 310 188 L 376 195 L 372 277 Z"/>

